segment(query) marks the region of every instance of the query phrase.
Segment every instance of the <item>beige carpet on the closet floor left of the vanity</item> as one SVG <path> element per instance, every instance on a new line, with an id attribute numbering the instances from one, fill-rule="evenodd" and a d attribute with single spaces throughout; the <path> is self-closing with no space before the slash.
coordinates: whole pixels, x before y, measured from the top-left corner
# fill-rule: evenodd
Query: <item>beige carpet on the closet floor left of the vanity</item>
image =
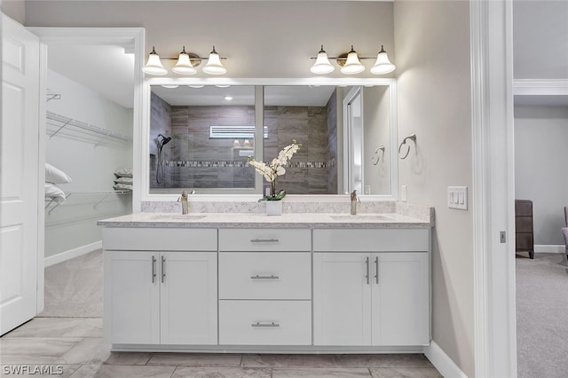
<path id="1" fill-rule="evenodd" d="M 45 268 L 45 307 L 40 317 L 102 318 L 102 250 Z"/>

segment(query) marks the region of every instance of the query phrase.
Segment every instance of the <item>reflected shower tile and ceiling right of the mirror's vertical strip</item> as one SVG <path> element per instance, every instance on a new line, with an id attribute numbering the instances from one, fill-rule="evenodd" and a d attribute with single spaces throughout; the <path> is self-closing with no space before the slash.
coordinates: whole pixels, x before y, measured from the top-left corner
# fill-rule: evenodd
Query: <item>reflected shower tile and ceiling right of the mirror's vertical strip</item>
<path id="1" fill-rule="evenodd" d="M 336 194 L 337 112 L 335 86 L 264 87 L 264 161 L 293 139 L 302 147 L 288 161 L 277 189 L 288 194 Z"/>

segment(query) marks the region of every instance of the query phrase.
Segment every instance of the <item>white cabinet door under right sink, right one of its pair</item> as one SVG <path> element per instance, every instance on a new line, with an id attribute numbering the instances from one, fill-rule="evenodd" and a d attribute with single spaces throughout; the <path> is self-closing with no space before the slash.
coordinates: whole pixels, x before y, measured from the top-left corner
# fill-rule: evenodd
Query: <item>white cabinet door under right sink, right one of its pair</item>
<path id="1" fill-rule="evenodd" d="M 378 253 L 373 260 L 373 345 L 430 343 L 428 253 Z"/>

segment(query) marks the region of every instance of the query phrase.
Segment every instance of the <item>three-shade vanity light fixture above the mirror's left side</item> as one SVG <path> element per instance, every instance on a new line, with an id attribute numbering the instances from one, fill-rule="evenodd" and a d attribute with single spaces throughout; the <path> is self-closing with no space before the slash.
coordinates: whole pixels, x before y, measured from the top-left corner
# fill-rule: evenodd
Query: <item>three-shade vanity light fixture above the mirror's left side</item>
<path id="1" fill-rule="evenodd" d="M 199 55 L 193 54 L 192 52 L 185 52 L 185 46 L 179 53 L 177 58 L 162 58 L 162 59 L 177 59 L 176 66 L 171 68 L 173 72 L 178 75 L 195 75 L 197 70 L 195 67 L 201 64 L 201 60 L 207 60 L 207 64 L 203 67 L 202 71 L 209 75 L 224 75 L 227 70 L 223 67 L 221 63 L 221 58 L 217 51 L 215 51 L 215 46 L 213 46 L 213 51 L 209 53 L 209 58 L 200 58 Z M 142 68 L 147 75 L 167 75 L 168 70 L 162 66 L 162 60 L 160 56 L 155 51 L 154 46 L 152 47 L 152 52 L 148 56 L 148 61 L 146 66 Z"/>

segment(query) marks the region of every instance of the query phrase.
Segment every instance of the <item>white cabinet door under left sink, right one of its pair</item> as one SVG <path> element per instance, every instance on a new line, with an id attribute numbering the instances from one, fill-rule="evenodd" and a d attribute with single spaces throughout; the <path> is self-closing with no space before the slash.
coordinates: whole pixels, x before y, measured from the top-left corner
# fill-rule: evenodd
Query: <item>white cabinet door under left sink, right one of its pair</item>
<path id="1" fill-rule="evenodd" d="M 162 344 L 217 344 L 217 253 L 162 252 Z"/>

